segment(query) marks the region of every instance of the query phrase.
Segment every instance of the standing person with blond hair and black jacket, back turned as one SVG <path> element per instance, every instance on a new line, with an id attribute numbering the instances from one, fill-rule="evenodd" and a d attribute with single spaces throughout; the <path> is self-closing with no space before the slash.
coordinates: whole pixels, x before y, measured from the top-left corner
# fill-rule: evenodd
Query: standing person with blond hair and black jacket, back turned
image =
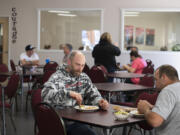
<path id="1" fill-rule="evenodd" d="M 92 56 L 94 57 L 95 65 L 103 65 L 109 73 L 116 71 L 115 56 L 119 56 L 121 51 L 117 44 L 112 43 L 112 37 L 108 32 L 101 35 L 99 43 L 94 47 Z M 109 79 L 110 82 L 113 78 Z"/>

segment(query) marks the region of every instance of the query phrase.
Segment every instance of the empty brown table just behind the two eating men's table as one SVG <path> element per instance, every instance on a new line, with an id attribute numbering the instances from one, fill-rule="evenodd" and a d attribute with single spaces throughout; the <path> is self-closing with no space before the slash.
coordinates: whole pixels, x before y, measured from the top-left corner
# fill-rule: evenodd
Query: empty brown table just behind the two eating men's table
<path id="1" fill-rule="evenodd" d="M 154 87 L 143 86 L 138 84 L 130 84 L 130 83 L 93 83 L 99 91 L 108 93 L 108 101 L 111 101 L 111 93 L 114 92 L 131 92 L 131 91 L 149 91 L 154 90 Z"/>

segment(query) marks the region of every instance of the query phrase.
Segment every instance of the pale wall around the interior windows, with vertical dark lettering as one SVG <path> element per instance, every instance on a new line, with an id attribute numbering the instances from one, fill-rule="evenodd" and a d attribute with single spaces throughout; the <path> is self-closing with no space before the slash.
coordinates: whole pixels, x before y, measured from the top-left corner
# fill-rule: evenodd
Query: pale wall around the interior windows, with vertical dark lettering
<path id="1" fill-rule="evenodd" d="M 37 8 L 102 8 L 104 9 L 103 31 L 112 34 L 114 42 L 119 42 L 120 34 L 120 8 L 180 8 L 179 0 L 0 0 L 0 17 L 11 17 L 11 8 L 17 8 L 17 32 L 16 44 L 9 42 L 10 58 L 17 63 L 19 54 L 24 51 L 25 45 L 31 43 L 37 45 Z M 10 19 L 10 26 L 12 21 Z M 10 27 L 11 37 L 11 27 Z M 11 41 L 11 40 L 10 40 Z M 38 52 L 41 63 L 46 57 L 60 61 L 63 53 Z M 150 58 L 156 67 L 161 64 L 171 64 L 180 71 L 179 53 L 140 52 L 144 58 Z M 87 63 L 93 65 L 90 53 L 86 53 Z M 129 61 L 129 54 L 124 52 L 117 61 L 122 64 Z"/>

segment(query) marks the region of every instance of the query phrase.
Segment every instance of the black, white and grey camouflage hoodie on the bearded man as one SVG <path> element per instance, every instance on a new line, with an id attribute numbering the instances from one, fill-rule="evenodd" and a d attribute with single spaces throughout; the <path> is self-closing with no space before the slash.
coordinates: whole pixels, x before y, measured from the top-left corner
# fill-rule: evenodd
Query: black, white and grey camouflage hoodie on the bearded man
<path id="1" fill-rule="evenodd" d="M 102 97 L 90 78 L 85 73 L 81 73 L 80 76 L 72 76 L 66 71 L 66 68 L 66 64 L 59 66 L 44 84 L 41 93 L 42 100 L 51 105 L 75 106 L 76 100 L 69 95 L 70 91 L 75 91 L 81 94 L 82 104 L 98 105 L 98 101 Z"/>

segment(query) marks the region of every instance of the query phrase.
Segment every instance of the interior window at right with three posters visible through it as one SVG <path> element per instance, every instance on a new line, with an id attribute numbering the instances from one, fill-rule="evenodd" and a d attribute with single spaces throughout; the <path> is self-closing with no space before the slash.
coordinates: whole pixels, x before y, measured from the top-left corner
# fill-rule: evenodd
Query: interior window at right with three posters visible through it
<path id="1" fill-rule="evenodd" d="M 123 11 L 124 49 L 180 51 L 180 11 Z"/>

